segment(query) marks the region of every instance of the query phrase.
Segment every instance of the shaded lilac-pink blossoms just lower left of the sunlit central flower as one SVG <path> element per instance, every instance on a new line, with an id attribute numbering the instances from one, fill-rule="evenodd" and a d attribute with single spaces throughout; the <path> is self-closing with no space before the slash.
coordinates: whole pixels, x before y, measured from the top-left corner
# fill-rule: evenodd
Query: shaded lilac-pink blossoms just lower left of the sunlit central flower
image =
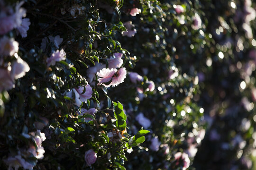
<path id="1" fill-rule="evenodd" d="M 85 90 L 85 92 L 84 92 L 84 90 Z M 67 96 L 70 98 L 73 98 L 73 93 L 74 93 L 74 97 L 75 97 L 74 105 L 80 107 L 82 102 L 87 102 L 87 99 L 91 99 L 92 88 L 89 84 L 85 85 L 85 86 L 80 86 L 79 88 L 74 88 L 70 92 L 68 92 Z"/>

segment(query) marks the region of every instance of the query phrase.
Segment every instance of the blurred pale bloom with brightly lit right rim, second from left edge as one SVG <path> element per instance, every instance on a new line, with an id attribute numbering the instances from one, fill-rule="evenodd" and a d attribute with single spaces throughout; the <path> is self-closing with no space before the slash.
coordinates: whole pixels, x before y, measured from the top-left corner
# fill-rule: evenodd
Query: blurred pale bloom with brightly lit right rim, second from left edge
<path id="1" fill-rule="evenodd" d="M 17 53 L 15 54 L 15 56 L 16 55 L 18 56 Z M 29 68 L 27 62 L 25 62 L 23 59 L 18 57 L 18 59 L 16 61 L 13 61 L 11 63 L 10 75 L 13 79 L 18 79 L 18 78 L 25 76 L 26 72 L 28 72 L 29 70 L 30 70 L 30 68 Z"/>

